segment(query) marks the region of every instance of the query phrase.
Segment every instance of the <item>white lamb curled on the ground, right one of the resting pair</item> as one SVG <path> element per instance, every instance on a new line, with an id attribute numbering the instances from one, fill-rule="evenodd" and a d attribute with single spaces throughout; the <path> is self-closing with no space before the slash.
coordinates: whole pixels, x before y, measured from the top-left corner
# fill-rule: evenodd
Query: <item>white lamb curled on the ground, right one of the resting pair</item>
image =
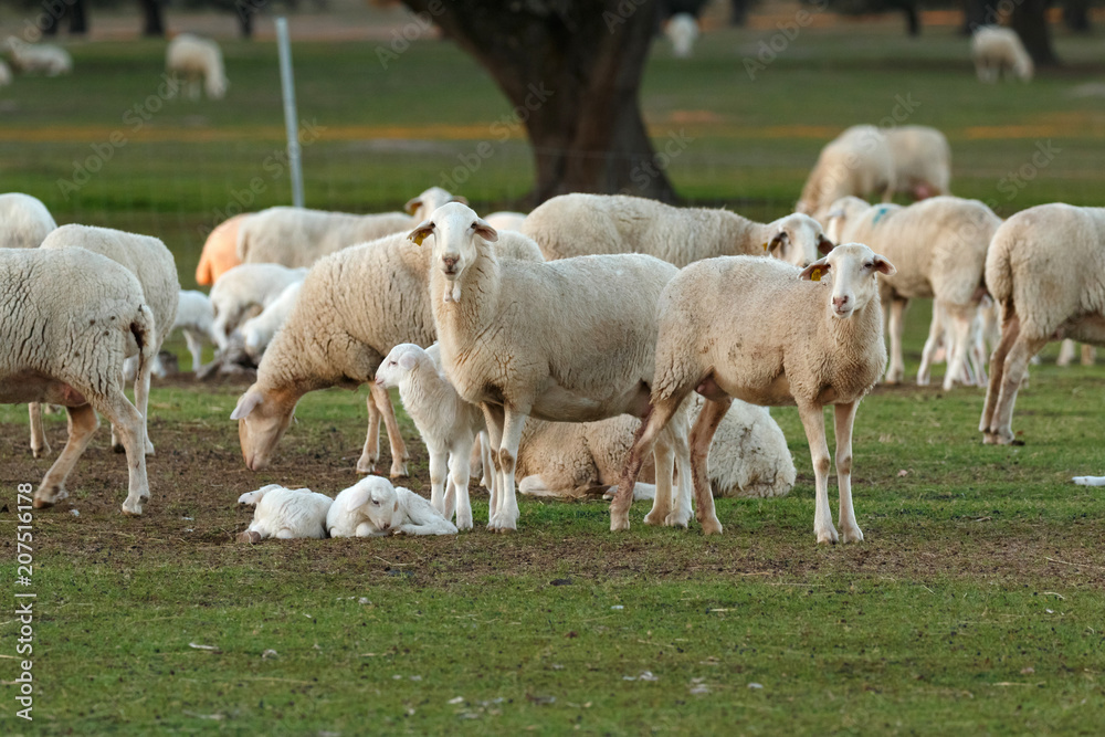
<path id="1" fill-rule="evenodd" d="M 410 491 L 382 476 L 367 476 L 343 489 L 326 515 L 330 537 L 455 535 L 456 525 Z"/>

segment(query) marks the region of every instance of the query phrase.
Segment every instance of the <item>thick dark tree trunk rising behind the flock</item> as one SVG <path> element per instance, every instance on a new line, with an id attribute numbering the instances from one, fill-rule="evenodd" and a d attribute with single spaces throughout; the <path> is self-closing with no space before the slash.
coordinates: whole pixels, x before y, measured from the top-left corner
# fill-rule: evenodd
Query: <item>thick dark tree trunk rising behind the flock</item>
<path id="1" fill-rule="evenodd" d="M 675 199 L 664 170 L 686 143 L 677 138 L 657 156 L 638 99 L 655 29 L 653 0 L 404 2 L 441 25 L 515 105 L 491 125 L 487 141 L 460 157 L 454 175 L 466 181 L 494 152 L 491 139 L 505 140 L 525 125 L 537 169 L 535 204 L 566 192 Z M 388 53 L 378 52 L 385 66 Z"/>

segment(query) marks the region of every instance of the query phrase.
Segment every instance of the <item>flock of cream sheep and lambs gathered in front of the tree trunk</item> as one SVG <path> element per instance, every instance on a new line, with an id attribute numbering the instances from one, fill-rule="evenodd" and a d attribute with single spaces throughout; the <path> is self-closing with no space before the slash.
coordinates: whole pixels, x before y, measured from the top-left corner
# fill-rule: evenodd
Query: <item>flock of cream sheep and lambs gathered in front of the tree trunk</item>
<path id="1" fill-rule="evenodd" d="M 272 463 L 306 393 L 368 383 L 356 470 L 381 467 L 382 420 L 390 475 L 407 475 L 388 393 L 398 388 L 429 450 L 430 498 L 371 475 L 334 501 L 265 487 L 241 498 L 256 505 L 249 541 L 470 529 L 470 476 L 491 493 L 493 530 L 516 529 L 516 489 L 608 489 L 611 529 L 629 527 L 632 499 L 652 498 L 646 523 L 686 527 L 695 516 L 704 533 L 719 533 L 715 495 L 779 496 L 793 485 L 766 408 L 796 404 L 815 473 L 817 539 L 857 541 L 852 428 L 877 381 L 904 379 L 909 299 L 934 301 L 918 383 L 943 350 L 945 387 L 987 385 L 987 443 L 1013 442 L 1017 391 L 1048 341 L 1105 343 L 1105 210 L 1045 204 L 1002 222 L 949 185 L 939 131 L 855 126 L 823 148 L 797 212 L 769 223 L 581 193 L 481 218 L 440 188 L 400 213 L 271 208 L 211 233 L 197 270 L 210 295 L 180 291 L 156 238 L 57 228 L 36 199 L 4 194 L 0 401 L 31 403 L 36 457 L 50 452 L 38 403 L 69 412 L 69 441 L 35 506 L 66 496 L 98 413 L 126 451 L 123 509 L 140 514 L 154 452 L 150 375 L 176 327 L 198 373 L 242 354 L 256 364 L 231 414 L 254 471 Z M 917 201 L 893 204 L 895 192 Z M 217 360 L 201 367 L 207 340 Z M 997 344 L 989 379 L 988 340 Z M 125 372 L 137 407 L 124 396 Z"/>

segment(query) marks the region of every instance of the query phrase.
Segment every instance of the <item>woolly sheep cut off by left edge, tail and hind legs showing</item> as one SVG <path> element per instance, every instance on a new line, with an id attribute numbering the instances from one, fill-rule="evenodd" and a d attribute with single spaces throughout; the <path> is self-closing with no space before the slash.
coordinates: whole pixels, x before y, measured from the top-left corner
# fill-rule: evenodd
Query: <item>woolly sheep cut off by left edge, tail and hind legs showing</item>
<path id="1" fill-rule="evenodd" d="M 69 413 L 69 440 L 34 494 L 35 508 L 69 496 L 66 478 L 99 412 L 127 454 L 123 512 L 141 514 L 149 498 L 144 415 L 123 392 L 122 368 L 138 354 L 139 385 L 148 385 L 156 333 L 138 278 L 110 259 L 80 248 L 0 250 L 0 402 L 52 402 Z"/>

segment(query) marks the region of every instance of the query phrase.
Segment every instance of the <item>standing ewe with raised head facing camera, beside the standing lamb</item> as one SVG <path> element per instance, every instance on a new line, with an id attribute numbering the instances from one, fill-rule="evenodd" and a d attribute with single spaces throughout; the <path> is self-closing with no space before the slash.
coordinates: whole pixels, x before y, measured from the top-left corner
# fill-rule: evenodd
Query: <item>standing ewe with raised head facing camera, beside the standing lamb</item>
<path id="1" fill-rule="evenodd" d="M 497 474 L 488 528 L 513 530 L 519 516 L 515 463 L 526 418 L 642 415 L 652 383 L 656 299 L 677 270 L 644 254 L 550 263 L 499 259 L 492 248 L 499 233 L 455 202 L 434 211 L 409 238 L 421 245 L 430 235 L 430 301 L 442 366 L 461 398 L 481 406 L 487 423 Z M 680 483 L 688 478 L 685 430 L 673 424 L 657 448 L 652 523 L 685 526 L 690 518 L 690 509 L 676 506 L 669 516 L 665 508 L 676 455 Z"/>

